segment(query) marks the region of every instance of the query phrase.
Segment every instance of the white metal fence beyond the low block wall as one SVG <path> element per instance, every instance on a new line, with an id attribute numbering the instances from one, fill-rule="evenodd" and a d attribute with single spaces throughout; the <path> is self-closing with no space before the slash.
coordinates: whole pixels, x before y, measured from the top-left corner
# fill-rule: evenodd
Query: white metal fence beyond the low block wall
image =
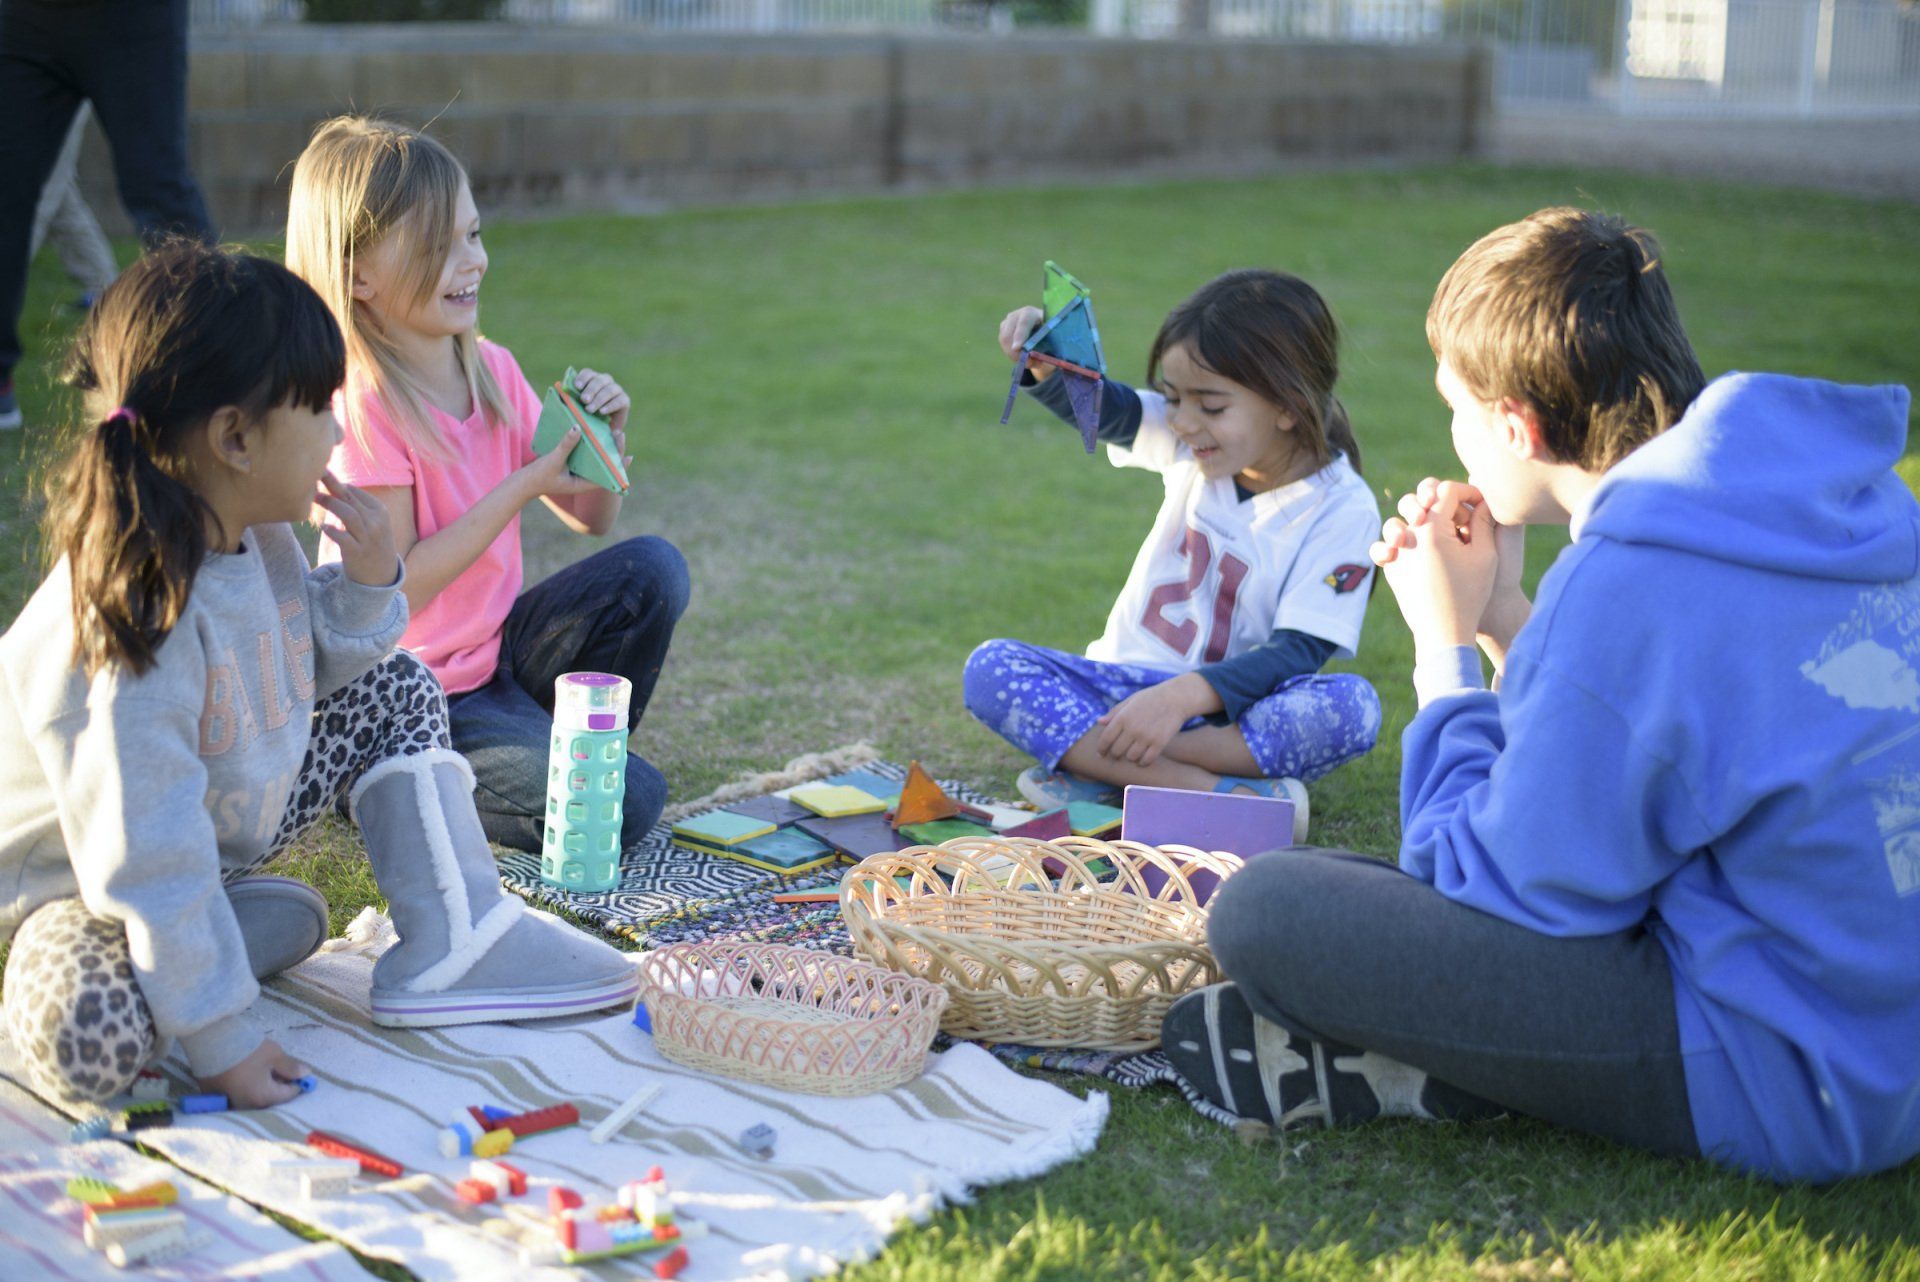
<path id="1" fill-rule="evenodd" d="M 192 0 L 202 27 L 301 0 Z M 1500 102 L 1699 115 L 1914 111 L 1920 0 L 1087 0 L 1096 33 L 1480 40 Z M 1014 0 L 503 0 L 538 25 L 660 31 L 1004 27 Z M 995 21 L 1002 19 L 1002 21 Z"/>

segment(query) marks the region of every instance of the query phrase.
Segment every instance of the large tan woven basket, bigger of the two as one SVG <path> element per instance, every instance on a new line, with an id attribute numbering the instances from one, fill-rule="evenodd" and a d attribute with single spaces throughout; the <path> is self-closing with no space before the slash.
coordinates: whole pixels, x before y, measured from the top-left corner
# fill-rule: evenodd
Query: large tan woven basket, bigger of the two
<path id="1" fill-rule="evenodd" d="M 864 956 L 947 990 L 954 1036 L 1135 1052 L 1160 1044 L 1175 998 L 1221 979 L 1188 873 L 1238 867 L 1190 846 L 956 837 L 862 860 L 841 912 Z"/>

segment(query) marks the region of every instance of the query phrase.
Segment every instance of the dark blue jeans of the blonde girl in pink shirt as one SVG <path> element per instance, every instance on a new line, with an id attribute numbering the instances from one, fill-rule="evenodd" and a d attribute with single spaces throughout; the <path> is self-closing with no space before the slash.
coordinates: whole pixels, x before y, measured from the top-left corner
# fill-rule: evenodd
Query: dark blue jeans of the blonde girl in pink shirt
<path id="1" fill-rule="evenodd" d="M 513 603 L 493 679 L 447 697 L 453 747 L 474 768 L 474 804 L 492 841 L 540 850 L 553 679 L 563 672 L 626 677 L 634 683 L 628 725 L 637 725 L 689 591 L 680 549 L 643 537 L 576 560 Z M 664 806 L 666 779 L 630 754 L 622 841 L 645 837 Z"/>

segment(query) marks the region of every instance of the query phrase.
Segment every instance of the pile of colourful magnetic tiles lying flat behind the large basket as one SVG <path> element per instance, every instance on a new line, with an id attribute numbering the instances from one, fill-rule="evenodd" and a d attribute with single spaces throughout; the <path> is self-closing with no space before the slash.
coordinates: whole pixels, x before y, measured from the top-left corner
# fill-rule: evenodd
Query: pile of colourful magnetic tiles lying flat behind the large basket
<path id="1" fill-rule="evenodd" d="M 970 806 L 947 795 L 914 762 L 899 783 L 868 770 L 770 796 L 728 802 L 674 825 L 674 844 L 739 860 L 770 873 L 804 873 L 833 860 L 858 864 L 910 844 L 954 837 L 1104 837 L 1119 827 L 1116 806 L 1073 802 L 1035 816 L 1010 806 Z"/>

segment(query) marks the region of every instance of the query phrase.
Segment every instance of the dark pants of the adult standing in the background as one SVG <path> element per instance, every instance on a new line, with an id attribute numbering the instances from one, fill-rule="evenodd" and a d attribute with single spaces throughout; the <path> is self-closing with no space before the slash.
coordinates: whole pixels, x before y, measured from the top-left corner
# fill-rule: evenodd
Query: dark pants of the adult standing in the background
<path id="1" fill-rule="evenodd" d="M 81 100 L 140 236 L 213 240 L 186 163 L 186 0 L 0 4 L 0 382 L 19 363 L 33 211 Z"/>

